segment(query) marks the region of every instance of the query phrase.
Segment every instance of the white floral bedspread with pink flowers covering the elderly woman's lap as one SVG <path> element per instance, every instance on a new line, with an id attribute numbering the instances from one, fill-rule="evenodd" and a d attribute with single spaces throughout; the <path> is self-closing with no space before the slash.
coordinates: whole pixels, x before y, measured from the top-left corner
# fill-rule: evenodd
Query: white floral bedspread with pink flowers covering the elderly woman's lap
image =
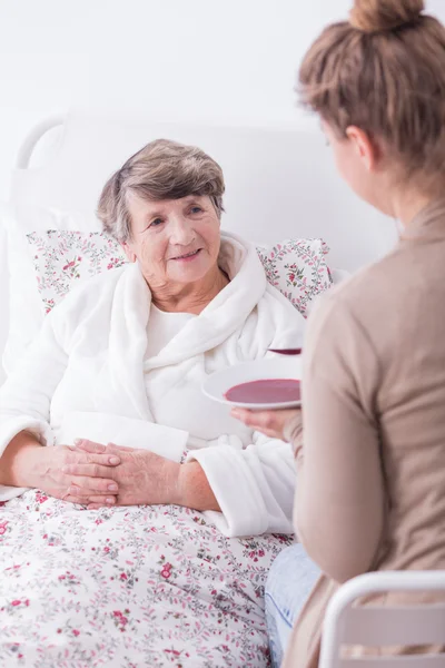
<path id="1" fill-rule="evenodd" d="M 225 538 L 174 505 L 0 504 L 0 667 L 266 668 L 267 571 L 289 537 Z"/>

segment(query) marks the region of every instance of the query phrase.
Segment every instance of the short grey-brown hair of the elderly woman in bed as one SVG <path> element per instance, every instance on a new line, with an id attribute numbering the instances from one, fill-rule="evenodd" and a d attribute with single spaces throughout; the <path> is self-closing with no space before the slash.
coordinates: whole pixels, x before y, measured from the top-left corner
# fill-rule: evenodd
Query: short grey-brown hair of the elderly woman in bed
<path id="1" fill-rule="evenodd" d="M 219 165 L 196 146 L 168 139 L 147 144 L 106 183 L 98 216 L 103 230 L 118 242 L 131 238 L 128 195 L 141 199 L 179 199 L 207 195 L 221 217 L 225 190 Z"/>

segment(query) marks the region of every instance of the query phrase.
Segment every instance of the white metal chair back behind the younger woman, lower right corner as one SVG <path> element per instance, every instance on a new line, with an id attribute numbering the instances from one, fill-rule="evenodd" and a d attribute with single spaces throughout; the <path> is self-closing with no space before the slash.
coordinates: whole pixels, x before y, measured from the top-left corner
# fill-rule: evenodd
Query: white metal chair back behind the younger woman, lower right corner
<path id="1" fill-rule="evenodd" d="M 445 668 L 442 655 L 342 657 L 342 646 L 445 646 L 445 602 L 357 606 L 362 597 L 394 591 L 445 592 L 445 571 L 386 571 L 353 578 L 326 611 L 319 668 Z"/>

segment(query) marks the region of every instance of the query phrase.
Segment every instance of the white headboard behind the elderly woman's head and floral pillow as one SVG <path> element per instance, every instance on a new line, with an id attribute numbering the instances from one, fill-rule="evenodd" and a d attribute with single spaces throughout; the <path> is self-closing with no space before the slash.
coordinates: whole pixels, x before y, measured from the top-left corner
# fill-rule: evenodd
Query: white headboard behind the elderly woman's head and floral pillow
<path id="1" fill-rule="evenodd" d="M 42 166 L 30 168 L 38 138 L 57 125 L 61 131 L 50 157 L 47 153 Z M 24 139 L 11 190 L 21 229 L 33 229 L 29 205 L 86 214 L 91 229 L 99 229 L 93 214 L 105 181 L 130 155 L 159 137 L 197 145 L 221 165 L 226 178 L 222 227 L 228 230 L 255 242 L 323 237 L 332 248 L 330 266 L 349 272 L 375 261 L 394 244 L 395 225 L 349 191 L 335 171 L 320 131 L 293 126 L 202 127 L 79 114 L 47 119 Z M 4 314 L 7 283 L 2 285 Z M 6 328 L 3 318 L 0 353 Z"/>

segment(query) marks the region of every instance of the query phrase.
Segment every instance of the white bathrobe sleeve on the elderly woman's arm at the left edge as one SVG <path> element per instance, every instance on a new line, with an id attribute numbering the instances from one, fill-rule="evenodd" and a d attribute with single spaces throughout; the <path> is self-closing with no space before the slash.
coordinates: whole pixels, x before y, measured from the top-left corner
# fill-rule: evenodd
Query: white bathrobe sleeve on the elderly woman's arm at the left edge
<path id="1" fill-rule="evenodd" d="M 36 435 L 42 445 L 53 444 L 49 425 L 52 394 L 67 367 L 67 353 L 53 328 L 53 314 L 46 317 L 36 341 L 0 389 L 0 456 L 21 431 Z M 0 501 L 23 493 L 0 485 Z"/>

